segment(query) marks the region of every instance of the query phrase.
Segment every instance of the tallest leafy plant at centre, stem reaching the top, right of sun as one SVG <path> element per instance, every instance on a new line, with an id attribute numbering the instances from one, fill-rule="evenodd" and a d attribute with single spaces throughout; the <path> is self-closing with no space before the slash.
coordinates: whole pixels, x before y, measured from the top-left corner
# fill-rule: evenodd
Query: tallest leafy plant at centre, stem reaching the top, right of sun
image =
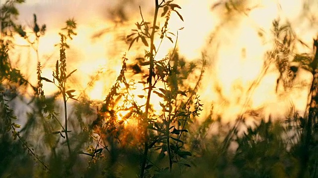
<path id="1" fill-rule="evenodd" d="M 156 143 L 159 143 L 158 148 L 161 149 L 160 151 L 161 155 L 159 156 L 163 157 L 164 152 L 167 151 L 168 159 L 169 159 L 169 167 L 168 167 L 169 172 L 172 171 L 172 163 L 179 162 L 177 155 L 181 157 L 191 156 L 190 152 L 180 150 L 180 148 L 183 145 L 183 141 L 180 140 L 180 137 L 183 132 L 187 132 L 187 130 L 185 130 L 185 125 L 190 115 L 193 115 L 194 117 L 197 116 L 197 113 L 201 110 L 201 107 L 202 107 L 202 105 L 199 103 L 199 99 L 197 98 L 197 102 L 195 103 L 195 109 L 193 111 L 190 111 L 190 106 L 188 106 L 187 104 L 189 100 L 192 99 L 192 95 L 189 97 L 186 103 L 182 103 L 181 98 L 183 96 L 187 97 L 187 94 L 186 94 L 186 91 L 182 91 L 179 89 L 179 85 L 178 85 L 178 79 L 180 79 L 178 76 L 179 61 L 177 59 L 177 56 L 173 55 L 174 51 L 172 52 L 172 55 L 170 57 L 167 56 L 166 58 L 160 61 L 155 60 L 156 53 L 159 50 L 159 47 L 156 49 L 156 46 L 154 45 L 156 31 L 160 29 L 160 27 L 157 26 L 157 18 L 158 18 L 159 9 L 163 8 L 161 17 L 165 17 L 165 23 L 163 27 L 161 27 L 160 29 L 160 34 L 159 34 L 160 39 L 163 39 L 165 37 L 173 43 L 171 37 L 167 36 L 167 34 L 170 33 L 167 31 L 167 29 L 168 29 L 168 20 L 170 18 L 171 11 L 174 11 L 183 21 L 182 16 L 176 10 L 177 8 L 181 8 L 181 7 L 171 2 L 172 0 L 169 0 L 166 2 L 162 0 L 160 3 L 159 3 L 159 0 L 155 1 L 155 5 L 156 5 L 155 15 L 154 15 L 154 22 L 152 24 L 152 27 L 148 26 L 151 23 L 146 22 L 144 20 L 141 9 L 140 9 L 142 22 L 141 23 L 137 22 L 136 26 L 138 29 L 133 30 L 133 31 L 136 31 L 137 33 L 133 33 L 127 36 L 127 38 L 130 38 L 134 35 L 138 35 L 131 41 L 129 48 L 132 46 L 135 40 L 138 41 L 139 38 L 141 38 L 145 46 L 149 46 L 147 39 L 150 39 L 150 51 L 145 51 L 145 59 L 143 59 L 144 61 L 142 61 L 144 65 L 149 65 L 149 73 L 145 76 L 145 78 L 147 78 L 147 81 L 141 82 L 145 85 L 148 84 L 148 87 L 145 88 L 145 89 L 148 89 L 145 113 L 143 113 L 142 115 L 143 117 L 141 122 L 141 126 L 143 128 L 142 133 L 144 135 L 143 136 L 144 154 L 143 154 L 143 161 L 141 165 L 141 174 L 140 174 L 140 177 L 142 178 L 144 177 L 145 170 L 150 169 L 153 166 L 152 164 L 147 164 L 148 152 L 149 152 L 149 149 L 151 149 L 152 147 L 156 145 Z M 174 35 L 173 33 L 170 33 L 170 34 Z M 157 83 L 163 84 L 164 87 L 156 89 L 155 86 Z M 158 116 L 154 117 L 152 116 L 152 114 L 150 114 L 150 98 L 151 98 L 152 92 L 157 94 L 159 97 L 163 98 L 164 100 L 163 103 L 160 102 L 160 106 L 162 107 L 162 114 L 159 115 L 159 118 L 161 118 L 162 123 L 158 122 L 159 120 L 159 118 L 157 118 Z M 173 126 L 173 123 L 176 123 L 177 125 Z M 157 132 L 157 135 L 154 138 L 150 137 L 150 135 L 152 134 L 149 133 L 148 131 L 149 129 Z M 176 134 L 178 136 L 174 137 L 173 134 Z M 185 164 L 185 165 L 189 166 L 188 164 Z M 161 170 L 161 171 L 164 171 L 164 170 Z"/>

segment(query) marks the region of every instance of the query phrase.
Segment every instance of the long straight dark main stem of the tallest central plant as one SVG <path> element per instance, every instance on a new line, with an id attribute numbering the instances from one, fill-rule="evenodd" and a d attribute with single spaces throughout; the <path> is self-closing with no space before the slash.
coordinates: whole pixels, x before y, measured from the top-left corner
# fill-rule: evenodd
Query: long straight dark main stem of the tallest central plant
<path id="1" fill-rule="evenodd" d="M 145 146 L 145 150 L 144 150 L 144 157 L 143 157 L 143 162 L 142 162 L 142 166 L 141 166 L 141 172 L 140 172 L 140 177 L 143 178 L 144 177 L 144 173 L 145 173 L 145 166 L 146 166 L 146 162 L 147 162 L 147 154 L 148 154 L 148 129 L 147 129 L 147 125 L 148 125 L 148 113 L 149 113 L 149 106 L 150 106 L 150 95 L 151 95 L 151 91 L 152 91 L 152 78 L 153 78 L 153 69 L 154 69 L 154 49 L 155 49 L 155 45 L 154 45 L 154 37 L 155 37 L 155 26 L 157 24 L 157 16 L 158 16 L 158 10 L 159 10 L 159 3 L 158 0 L 156 0 L 156 8 L 155 8 L 155 15 L 154 15 L 154 23 L 153 23 L 153 27 L 152 28 L 152 33 L 151 33 L 151 37 L 150 37 L 150 67 L 149 67 L 149 89 L 148 89 L 148 95 L 147 95 L 147 102 L 146 102 L 146 113 L 145 113 L 145 119 L 144 119 L 144 146 Z"/>

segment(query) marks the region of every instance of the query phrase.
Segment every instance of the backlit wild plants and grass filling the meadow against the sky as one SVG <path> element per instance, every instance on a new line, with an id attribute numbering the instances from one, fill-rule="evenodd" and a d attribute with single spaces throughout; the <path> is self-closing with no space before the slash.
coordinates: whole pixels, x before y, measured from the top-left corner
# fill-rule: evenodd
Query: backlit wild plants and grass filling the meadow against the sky
<path id="1" fill-rule="evenodd" d="M 294 113 L 285 123 L 261 119 L 251 127 L 245 123 L 246 113 L 230 126 L 222 125 L 222 118 L 212 120 L 212 112 L 199 126 L 193 127 L 204 108 L 198 89 L 203 85 L 206 61 L 204 54 L 201 61 L 191 63 L 180 57 L 176 44 L 182 28 L 170 32 L 168 22 L 171 13 L 181 21 L 183 17 L 178 12 L 181 7 L 173 0 L 154 1 L 152 22 L 145 21 L 139 8 L 141 21 L 136 23 L 127 41 L 128 49 L 139 40 L 144 45 L 144 56 L 137 58 L 133 66 L 135 73 L 144 72 L 137 79 L 127 77 L 129 59 L 124 55 L 117 80 L 98 106 L 92 106 L 84 93 L 75 96 L 76 90 L 68 85 L 68 79 L 77 72 L 76 69 L 67 72 L 71 65 L 66 50 L 72 47 L 68 45 L 69 40 L 77 35 L 75 20 L 67 20 L 61 29 L 60 58 L 52 79 L 44 78 L 37 44 L 45 35 L 46 25 L 40 27 L 36 15 L 32 32 L 25 32 L 15 23 L 14 17 L 18 15 L 15 5 L 23 1 L 7 0 L 0 8 L 1 178 L 317 177 L 317 40 L 314 41 L 316 53 L 297 54 L 294 58 L 315 76 L 308 116 L 301 118 Z M 233 1 L 217 5 L 224 5 L 229 11 L 243 11 Z M 159 26 L 159 19 L 164 21 L 163 26 Z M 36 87 L 11 66 L 8 51 L 14 50 L 13 34 L 24 38 L 37 53 Z M 34 42 L 29 40 L 32 35 L 36 37 Z M 279 80 L 288 88 L 293 78 L 288 78 L 292 69 L 286 58 L 293 51 L 296 34 L 288 24 L 281 26 L 275 20 L 273 35 L 276 43 L 268 58 L 274 59 L 281 73 Z M 155 39 L 161 42 L 167 39 L 175 47 L 163 59 L 157 59 L 160 45 L 155 46 Z M 265 63 L 264 73 L 266 67 Z M 252 83 L 248 92 L 252 92 L 259 80 Z M 58 92 L 45 95 L 43 85 L 47 82 L 54 84 Z M 135 94 L 137 86 L 142 86 L 144 94 Z M 25 93 L 19 90 L 22 87 L 30 87 L 34 95 L 27 103 L 26 118 L 17 118 L 14 111 L 18 108 L 12 103 L 15 98 L 24 97 Z M 160 100 L 152 99 L 152 95 Z M 154 105 L 159 105 L 160 111 Z M 25 124 L 17 124 L 20 120 L 25 120 Z M 210 135 L 210 129 L 216 126 L 218 133 Z M 242 135 L 239 126 L 246 128 Z M 237 145 L 235 149 L 233 144 Z"/>

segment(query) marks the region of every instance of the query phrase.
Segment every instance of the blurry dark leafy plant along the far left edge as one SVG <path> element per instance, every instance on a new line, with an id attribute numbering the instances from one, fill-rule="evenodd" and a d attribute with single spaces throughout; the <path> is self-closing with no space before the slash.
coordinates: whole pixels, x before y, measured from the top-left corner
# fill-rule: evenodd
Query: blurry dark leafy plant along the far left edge
<path id="1" fill-rule="evenodd" d="M 32 89 L 36 90 L 36 88 L 30 85 L 29 82 L 22 76 L 18 69 L 15 69 L 11 66 L 8 56 L 8 51 L 12 49 L 11 41 L 13 39 L 13 34 L 16 32 L 16 29 L 19 26 L 15 23 L 15 19 L 18 15 L 15 5 L 22 2 L 24 2 L 24 0 L 6 0 L 0 7 L 0 112 L 3 118 L 3 120 L 0 121 L 2 125 L 0 139 L 3 139 L 4 141 L 4 145 L 2 147 L 4 151 L 6 150 L 5 144 L 10 146 L 10 139 L 6 136 L 6 132 L 11 131 L 13 140 L 18 138 L 21 142 L 21 145 L 15 144 L 15 146 L 17 146 L 17 148 L 24 148 L 30 155 L 34 157 L 36 162 L 39 162 L 44 169 L 48 170 L 48 166 L 43 162 L 40 156 L 35 153 L 34 148 L 32 148 L 26 139 L 23 138 L 22 135 L 17 131 L 17 129 L 19 129 L 21 126 L 13 122 L 13 120 L 16 119 L 16 116 L 13 112 L 13 109 L 11 109 L 8 105 L 10 100 L 13 100 L 16 96 L 23 94 L 19 93 L 20 91 L 18 91 L 20 86 L 30 86 Z M 3 152 L 3 154 L 5 153 Z M 4 164 L 1 163 L 1 167 L 2 166 L 4 166 Z"/>

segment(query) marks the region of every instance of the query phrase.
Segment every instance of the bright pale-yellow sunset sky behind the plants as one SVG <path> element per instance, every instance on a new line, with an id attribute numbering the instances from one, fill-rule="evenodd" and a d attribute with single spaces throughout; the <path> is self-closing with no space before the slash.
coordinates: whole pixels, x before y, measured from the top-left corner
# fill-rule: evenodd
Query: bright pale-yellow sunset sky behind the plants
<path id="1" fill-rule="evenodd" d="M 175 0 L 182 9 L 184 22 L 173 14 L 169 27 L 171 32 L 184 27 L 179 31 L 178 47 L 180 53 L 188 60 L 199 60 L 202 51 L 207 52 L 208 66 L 203 79 L 199 94 L 205 104 L 208 114 L 211 104 L 214 105 L 215 115 L 222 115 L 225 121 L 235 118 L 242 112 L 242 106 L 248 97 L 247 86 L 255 80 L 263 67 L 264 54 L 272 49 L 272 37 L 270 28 L 272 20 L 280 17 L 282 21 L 288 19 L 296 34 L 309 46 L 312 39 L 318 35 L 318 15 L 313 13 L 318 9 L 318 3 L 313 1 L 311 10 L 307 14 L 302 13 L 302 1 L 290 0 L 247 0 L 246 6 L 256 8 L 248 12 L 236 13 L 230 18 L 224 16 L 224 8 L 216 8 L 211 11 L 215 2 L 211 0 Z M 280 4 L 280 6 L 278 5 Z M 31 24 L 32 14 L 38 15 L 38 23 L 47 25 L 47 33 L 40 39 L 39 53 L 41 62 L 45 64 L 43 75 L 52 78 L 52 70 L 55 61 L 59 59 L 58 48 L 54 47 L 59 42 L 59 29 L 64 27 L 68 18 L 74 17 L 78 23 L 78 36 L 70 42 L 71 48 L 67 50 L 68 70 L 74 73 L 71 79 L 74 83 L 70 86 L 78 91 L 86 88 L 87 83 L 98 71 L 99 79 L 95 86 L 86 89 L 92 99 L 103 100 L 108 89 L 114 83 L 121 66 L 121 57 L 127 52 L 127 57 L 133 62 L 134 57 L 143 54 L 142 44 L 135 44 L 130 51 L 128 45 L 121 42 L 119 38 L 130 34 L 134 23 L 140 21 L 139 5 L 141 5 L 145 18 L 150 21 L 153 14 L 153 3 L 151 0 L 136 0 L 128 2 L 125 0 L 27 0 L 19 6 L 19 21 L 22 24 Z M 114 24 L 117 19 L 109 11 L 123 9 L 130 18 L 122 24 Z M 223 15 L 222 15 L 223 14 Z M 308 15 L 310 14 L 310 15 Z M 315 16 L 316 15 L 316 16 Z M 316 25 L 311 25 L 309 19 L 316 18 Z M 119 18 L 118 18 L 119 19 Z M 220 27 L 220 24 L 223 24 Z M 209 43 L 211 33 L 216 27 L 220 27 L 215 39 Z M 262 37 L 258 35 L 258 29 L 262 29 Z M 92 38 L 95 34 L 106 31 L 99 38 Z M 175 41 L 175 39 L 174 39 Z M 17 43 L 24 45 L 22 39 Z M 158 43 L 158 42 L 157 42 Z M 138 46 L 139 45 L 139 46 Z M 167 40 L 161 45 L 157 58 L 163 57 L 173 45 Z M 136 52 L 139 49 L 141 52 Z M 300 47 L 297 52 L 311 52 L 310 49 Z M 47 60 L 47 56 L 52 57 Z M 36 84 L 36 58 L 34 51 L 22 47 L 19 52 L 14 53 L 21 60 L 15 65 Z M 30 66 L 29 64 L 34 64 Z M 299 81 L 310 81 L 306 71 L 301 70 Z M 306 88 L 292 89 L 287 93 L 278 95 L 275 93 L 276 80 L 279 73 L 274 66 L 262 78 L 259 86 L 253 90 L 250 98 L 250 108 L 262 108 L 264 115 L 273 113 L 282 116 L 287 112 L 290 103 L 293 102 L 300 112 L 303 112 L 307 102 Z M 221 89 L 221 93 L 216 91 Z M 54 86 L 45 84 L 44 90 L 50 93 Z M 296 94 L 295 94 L 296 93 Z M 222 96 L 222 97 L 221 97 Z"/>

